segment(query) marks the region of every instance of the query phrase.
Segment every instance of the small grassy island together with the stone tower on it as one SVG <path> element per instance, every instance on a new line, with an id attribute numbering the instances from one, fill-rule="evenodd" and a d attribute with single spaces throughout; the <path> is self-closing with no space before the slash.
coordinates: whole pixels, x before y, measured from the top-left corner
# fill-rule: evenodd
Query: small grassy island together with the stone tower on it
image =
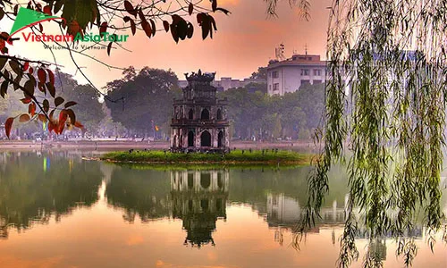
<path id="1" fill-rule="evenodd" d="M 100 157 L 115 163 L 157 163 L 180 165 L 270 165 L 310 164 L 312 155 L 275 149 L 231 150 L 225 99 L 216 97 L 211 85 L 215 73 L 198 70 L 185 73 L 188 86 L 182 98 L 173 102 L 171 148 L 163 151 L 113 152 Z"/>

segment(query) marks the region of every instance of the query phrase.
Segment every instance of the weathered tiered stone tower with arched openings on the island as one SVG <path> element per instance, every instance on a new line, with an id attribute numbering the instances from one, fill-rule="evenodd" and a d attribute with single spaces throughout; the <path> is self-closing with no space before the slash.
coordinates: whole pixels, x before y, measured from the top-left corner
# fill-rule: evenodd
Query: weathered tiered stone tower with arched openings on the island
<path id="1" fill-rule="evenodd" d="M 171 149 L 173 152 L 227 152 L 229 144 L 227 100 L 215 96 L 215 73 L 185 74 L 188 86 L 173 101 Z"/>

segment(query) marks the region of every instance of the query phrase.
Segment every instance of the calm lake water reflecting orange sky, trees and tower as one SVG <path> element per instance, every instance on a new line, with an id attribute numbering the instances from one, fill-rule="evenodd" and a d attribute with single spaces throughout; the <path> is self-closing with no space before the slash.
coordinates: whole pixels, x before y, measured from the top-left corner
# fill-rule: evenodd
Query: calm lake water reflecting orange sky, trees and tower
<path id="1" fill-rule="evenodd" d="M 131 169 L 79 153 L 0 152 L 0 267 L 334 267 L 347 193 L 340 171 L 324 221 L 291 247 L 307 172 Z M 441 234 L 434 254 L 421 229 L 417 246 L 414 267 L 447 267 Z M 367 247 L 385 267 L 402 266 L 392 239 L 358 237 L 361 256 Z"/>

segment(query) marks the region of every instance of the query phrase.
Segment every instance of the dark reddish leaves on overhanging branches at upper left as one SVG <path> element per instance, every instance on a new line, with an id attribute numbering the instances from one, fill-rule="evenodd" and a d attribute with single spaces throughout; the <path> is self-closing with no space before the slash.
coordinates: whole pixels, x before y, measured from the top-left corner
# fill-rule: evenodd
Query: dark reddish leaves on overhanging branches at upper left
<path id="1" fill-rule="evenodd" d="M 215 30 L 217 30 L 215 13 L 227 15 L 230 13 L 217 4 L 217 0 L 212 0 L 208 4 L 201 4 L 201 2 L 193 4 L 187 1 L 184 3 L 168 2 L 166 4 L 166 1 L 163 3 L 143 1 L 135 4 L 127 0 L 112 2 L 105 0 L 46 0 L 41 3 L 30 1 L 28 4 L 15 4 L 4 0 L 0 1 L 0 21 L 16 21 L 18 13 L 27 10 L 42 13 L 42 16 L 44 14 L 46 16 L 59 15 L 62 21 L 53 20 L 52 23 L 59 24 L 61 34 L 70 36 L 74 42 L 77 38 L 90 38 L 89 32 L 97 29 L 98 43 L 107 46 L 107 54 L 110 55 L 112 48 L 120 46 L 119 42 L 122 41 L 118 34 L 130 31 L 132 35 L 135 35 L 137 30 L 141 30 L 148 38 L 153 38 L 158 31 L 157 24 L 163 24 L 165 31 L 171 32 L 176 43 L 185 38 L 192 38 L 194 34 L 193 21 L 197 21 L 203 39 L 213 38 Z M 173 9 L 171 9 L 172 7 Z M 116 18 L 120 18 L 120 20 L 116 20 Z M 34 35 L 45 34 L 41 23 L 30 24 L 27 27 L 33 31 Z M 160 28 L 161 25 L 158 27 Z M 48 40 L 46 38 L 40 38 L 40 41 L 44 45 L 52 42 L 56 46 L 66 48 L 72 57 L 72 44 L 63 44 L 55 39 Z M 59 90 L 56 90 L 59 88 L 55 87 L 54 69 L 52 70 L 50 67 L 58 67 L 57 64 L 11 55 L 9 50 L 13 49 L 13 44 L 16 42 L 20 42 L 20 39 L 10 38 L 7 32 L 0 34 L 0 96 L 4 98 L 8 94 L 8 90 L 21 90 L 23 93 L 21 102 L 28 106 L 28 113 L 6 119 L 4 123 L 6 136 L 10 136 L 14 121 L 47 121 L 48 130 L 54 131 L 56 134 L 61 134 L 65 127 L 83 128 L 79 121 L 75 121 L 76 114 L 72 110 L 72 106 L 76 104 L 59 96 Z M 74 62 L 73 57 L 72 60 Z M 76 62 L 74 64 L 78 71 L 86 77 L 80 70 L 80 66 Z M 65 101 L 65 105 L 61 106 Z M 115 102 L 113 99 L 110 101 Z"/>

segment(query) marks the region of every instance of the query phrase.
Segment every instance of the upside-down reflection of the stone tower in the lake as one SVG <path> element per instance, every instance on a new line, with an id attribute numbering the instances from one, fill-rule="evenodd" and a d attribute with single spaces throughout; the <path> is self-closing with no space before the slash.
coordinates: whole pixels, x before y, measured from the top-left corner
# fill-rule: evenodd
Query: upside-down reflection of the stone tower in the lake
<path id="1" fill-rule="evenodd" d="M 171 173 L 173 218 L 183 222 L 184 245 L 215 246 L 212 233 L 217 219 L 226 219 L 228 184 L 228 171 Z"/>

